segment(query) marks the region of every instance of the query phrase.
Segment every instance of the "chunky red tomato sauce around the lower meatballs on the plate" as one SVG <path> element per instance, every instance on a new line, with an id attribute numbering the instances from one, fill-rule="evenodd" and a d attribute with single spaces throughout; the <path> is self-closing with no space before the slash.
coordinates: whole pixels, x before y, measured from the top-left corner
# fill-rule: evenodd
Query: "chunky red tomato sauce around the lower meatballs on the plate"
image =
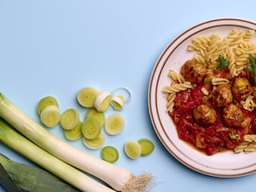
<path id="1" fill-rule="evenodd" d="M 233 150 L 243 141 L 245 134 L 256 134 L 256 130 L 251 126 L 255 111 L 250 112 L 241 107 L 244 119 L 250 126 L 246 128 L 225 126 L 222 122 L 222 108 L 212 105 L 210 97 L 202 93 L 202 86 L 205 86 L 205 83 L 176 94 L 174 110 L 169 114 L 180 139 L 189 142 L 207 155 L 213 155 L 222 150 Z M 203 103 L 216 111 L 216 121 L 211 126 L 200 126 L 194 121 L 194 107 Z"/>

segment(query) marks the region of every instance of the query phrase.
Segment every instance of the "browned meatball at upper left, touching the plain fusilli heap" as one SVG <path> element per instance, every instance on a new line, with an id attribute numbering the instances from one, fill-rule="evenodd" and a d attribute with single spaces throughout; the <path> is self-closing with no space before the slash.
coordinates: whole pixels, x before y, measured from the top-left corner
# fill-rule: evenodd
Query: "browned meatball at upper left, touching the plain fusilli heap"
<path id="1" fill-rule="evenodd" d="M 189 60 L 183 64 L 181 74 L 186 81 L 199 83 L 203 81 L 206 75 L 206 66 L 197 62 L 195 59 Z"/>

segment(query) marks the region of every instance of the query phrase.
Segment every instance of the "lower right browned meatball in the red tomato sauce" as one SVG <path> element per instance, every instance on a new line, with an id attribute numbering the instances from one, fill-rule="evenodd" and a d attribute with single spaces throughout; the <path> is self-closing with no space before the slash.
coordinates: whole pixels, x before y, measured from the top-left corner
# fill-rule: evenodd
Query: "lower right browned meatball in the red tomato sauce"
<path id="1" fill-rule="evenodd" d="M 242 110 L 234 103 L 230 103 L 222 110 L 222 120 L 226 126 L 241 126 L 243 121 Z"/>

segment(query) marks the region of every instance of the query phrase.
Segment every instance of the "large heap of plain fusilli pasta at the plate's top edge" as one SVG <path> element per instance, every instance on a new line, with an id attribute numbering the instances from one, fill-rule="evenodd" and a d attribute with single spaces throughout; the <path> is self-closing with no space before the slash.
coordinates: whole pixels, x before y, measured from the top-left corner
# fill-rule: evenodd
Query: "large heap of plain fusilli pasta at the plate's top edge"
<path id="1" fill-rule="evenodd" d="M 249 42 L 254 37 L 254 30 L 232 30 L 226 38 L 217 34 L 209 37 L 196 37 L 188 46 L 188 50 L 197 51 L 194 58 L 207 66 L 217 62 L 222 55 L 230 62 L 229 69 L 232 77 L 243 73 L 248 62 L 248 56 L 256 52 L 256 44 Z"/>

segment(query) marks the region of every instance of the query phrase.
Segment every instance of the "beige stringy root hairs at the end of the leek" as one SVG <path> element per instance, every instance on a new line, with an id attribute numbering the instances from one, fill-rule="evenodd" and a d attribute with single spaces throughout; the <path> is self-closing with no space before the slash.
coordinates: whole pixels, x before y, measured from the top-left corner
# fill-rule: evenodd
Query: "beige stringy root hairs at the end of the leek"
<path id="1" fill-rule="evenodd" d="M 122 188 L 122 192 L 146 192 L 150 191 L 149 186 L 154 185 L 153 174 L 144 173 L 142 175 L 132 175 L 128 182 L 126 182 L 125 186 Z"/>

